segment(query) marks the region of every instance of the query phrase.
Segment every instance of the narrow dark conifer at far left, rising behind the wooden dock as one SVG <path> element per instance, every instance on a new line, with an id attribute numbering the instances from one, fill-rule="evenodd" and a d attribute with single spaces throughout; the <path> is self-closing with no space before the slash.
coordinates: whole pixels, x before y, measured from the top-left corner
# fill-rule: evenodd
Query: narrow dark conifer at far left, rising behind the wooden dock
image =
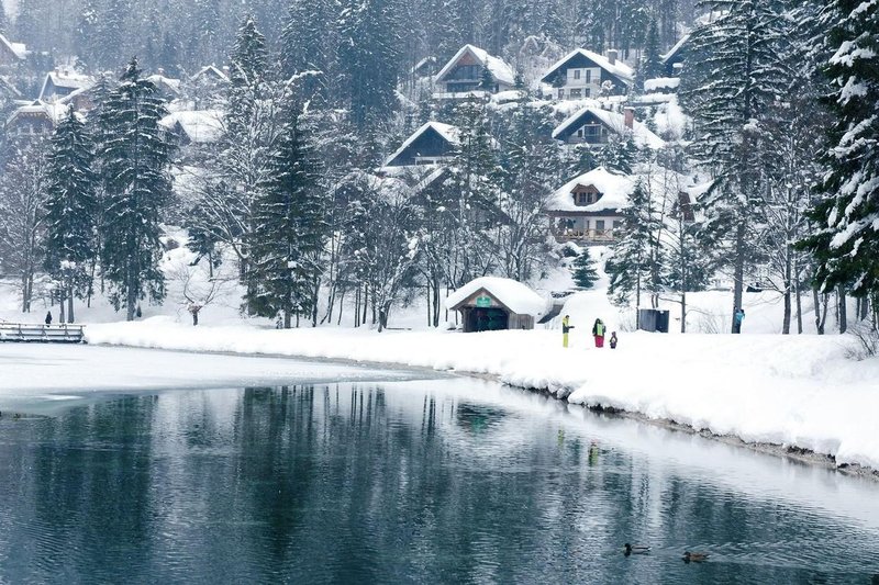
<path id="1" fill-rule="evenodd" d="M 90 290 L 90 262 L 97 255 L 94 145 L 73 108 L 52 137 L 46 169 L 46 256 L 44 267 L 60 283 L 62 315 L 74 323 L 74 296 Z M 60 319 L 64 322 L 64 318 Z"/>

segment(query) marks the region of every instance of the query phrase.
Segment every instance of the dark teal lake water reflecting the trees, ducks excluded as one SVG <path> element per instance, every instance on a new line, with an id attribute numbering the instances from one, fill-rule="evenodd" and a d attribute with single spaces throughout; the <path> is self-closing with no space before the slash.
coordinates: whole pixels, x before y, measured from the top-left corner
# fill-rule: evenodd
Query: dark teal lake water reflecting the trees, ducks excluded
<path id="1" fill-rule="evenodd" d="M 877 583 L 879 485 L 493 384 L 0 419 L 0 583 Z M 625 558 L 626 541 L 650 544 Z M 685 564 L 685 549 L 711 553 Z"/>

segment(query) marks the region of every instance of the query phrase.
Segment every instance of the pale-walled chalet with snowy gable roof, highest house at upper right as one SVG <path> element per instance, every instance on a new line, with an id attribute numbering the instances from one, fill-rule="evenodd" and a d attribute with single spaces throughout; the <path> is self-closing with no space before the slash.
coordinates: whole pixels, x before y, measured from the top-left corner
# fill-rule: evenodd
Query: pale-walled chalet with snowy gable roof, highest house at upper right
<path id="1" fill-rule="evenodd" d="M 553 65 L 541 81 L 553 86 L 559 100 L 598 98 L 601 94 L 624 95 L 632 87 L 635 72 L 617 59 L 615 50 L 603 57 L 585 48 L 571 50 Z"/>

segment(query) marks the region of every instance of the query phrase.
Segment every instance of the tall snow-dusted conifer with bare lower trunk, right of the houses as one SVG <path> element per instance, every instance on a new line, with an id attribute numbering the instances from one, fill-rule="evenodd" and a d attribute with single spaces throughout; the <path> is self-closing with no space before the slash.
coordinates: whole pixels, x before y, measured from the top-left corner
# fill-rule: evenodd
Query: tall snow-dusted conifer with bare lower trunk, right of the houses
<path id="1" fill-rule="evenodd" d="M 702 201 L 700 238 L 706 248 L 726 254 L 733 305 L 741 307 L 745 268 L 761 252 L 755 229 L 772 148 L 766 123 L 790 78 L 782 58 L 788 31 L 775 2 L 712 0 L 701 5 L 716 18 L 690 37 L 689 54 L 698 58 L 687 63 L 681 98 L 694 124 L 690 151 L 716 177 Z M 732 317 L 730 325 L 734 328 Z"/>

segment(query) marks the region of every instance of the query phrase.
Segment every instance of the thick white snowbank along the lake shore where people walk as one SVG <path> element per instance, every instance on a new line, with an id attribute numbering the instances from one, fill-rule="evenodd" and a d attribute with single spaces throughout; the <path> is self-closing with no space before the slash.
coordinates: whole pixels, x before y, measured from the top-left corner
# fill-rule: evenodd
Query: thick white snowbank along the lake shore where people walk
<path id="1" fill-rule="evenodd" d="M 747 442 L 806 449 L 879 470 L 879 360 L 836 336 L 623 334 L 570 349 L 555 330 L 459 334 L 191 327 L 157 317 L 92 325 L 91 344 L 347 359 L 491 374 L 559 398 L 669 419 Z"/>

